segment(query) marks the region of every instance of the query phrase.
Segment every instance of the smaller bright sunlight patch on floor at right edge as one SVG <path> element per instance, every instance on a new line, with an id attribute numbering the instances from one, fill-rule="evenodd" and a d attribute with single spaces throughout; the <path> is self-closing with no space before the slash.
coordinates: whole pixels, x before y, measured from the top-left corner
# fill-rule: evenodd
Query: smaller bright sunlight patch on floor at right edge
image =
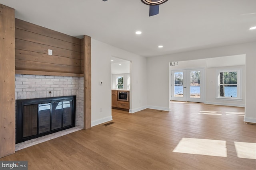
<path id="1" fill-rule="evenodd" d="M 234 142 L 238 158 L 256 159 L 256 143 Z"/>

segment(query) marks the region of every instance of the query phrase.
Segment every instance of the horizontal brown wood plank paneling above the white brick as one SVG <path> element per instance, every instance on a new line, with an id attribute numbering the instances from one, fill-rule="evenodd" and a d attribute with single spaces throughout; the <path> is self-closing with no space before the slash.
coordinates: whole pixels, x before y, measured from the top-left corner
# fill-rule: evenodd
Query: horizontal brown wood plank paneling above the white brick
<path id="1" fill-rule="evenodd" d="M 16 74 L 83 76 L 83 39 L 16 18 L 15 42 Z"/>

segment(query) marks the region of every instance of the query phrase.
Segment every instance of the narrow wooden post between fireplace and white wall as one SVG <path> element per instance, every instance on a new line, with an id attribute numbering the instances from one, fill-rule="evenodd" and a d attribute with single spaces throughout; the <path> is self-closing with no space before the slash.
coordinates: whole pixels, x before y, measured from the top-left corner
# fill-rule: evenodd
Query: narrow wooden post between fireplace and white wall
<path id="1" fill-rule="evenodd" d="M 92 92 L 91 92 L 91 37 L 84 35 L 84 129 L 91 127 Z"/>

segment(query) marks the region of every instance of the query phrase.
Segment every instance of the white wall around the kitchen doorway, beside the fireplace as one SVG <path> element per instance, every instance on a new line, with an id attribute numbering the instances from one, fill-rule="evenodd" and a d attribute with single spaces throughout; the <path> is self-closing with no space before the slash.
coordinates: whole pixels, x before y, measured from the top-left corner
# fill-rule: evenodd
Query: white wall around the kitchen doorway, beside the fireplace
<path id="1" fill-rule="evenodd" d="M 111 57 L 131 61 L 130 112 L 147 105 L 146 58 L 118 49 L 95 39 L 92 47 L 92 126 L 112 120 L 111 115 Z M 100 85 L 99 81 L 103 82 Z M 102 108 L 102 112 L 100 112 Z"/>

